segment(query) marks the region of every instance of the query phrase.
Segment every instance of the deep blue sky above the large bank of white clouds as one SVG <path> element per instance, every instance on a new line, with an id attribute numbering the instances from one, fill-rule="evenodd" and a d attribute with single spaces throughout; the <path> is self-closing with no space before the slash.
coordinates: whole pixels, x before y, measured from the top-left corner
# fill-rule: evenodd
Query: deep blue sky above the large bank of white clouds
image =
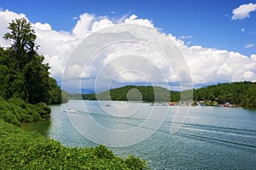
<path id="1" fill-rule="evenodd" d="M 73 17 L 89 13 L 108 15 L 112 20 L 136 14 L 138 18 L 152 20 L 155 27 L 175 37 L 190 36 L 184 40 L 191 45 L 255 54 L 256 12 L 244 20 L 231 20 L 232 10 L 247 0 L 131 0 L 131 1 L 1 1 L 0 8 L 26 14 L 32 22 L 49 23 L 57 31 L 72 31 Z M 241 30 L 244 31 L 241 31 Z"/>

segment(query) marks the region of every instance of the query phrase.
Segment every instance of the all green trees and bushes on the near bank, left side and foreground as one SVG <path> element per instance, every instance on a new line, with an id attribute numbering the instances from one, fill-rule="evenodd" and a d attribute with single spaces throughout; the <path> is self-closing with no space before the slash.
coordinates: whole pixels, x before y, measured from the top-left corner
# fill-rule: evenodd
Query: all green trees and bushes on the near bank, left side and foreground
<path id="1" fill-rule="evenodd" d="M 0 47 L 0 167 L 1 169 L 145 169 L 146 162 L 122 159 L 99 145 L 68 148 L 39 133 L 25 132 L 22 122 L 49 118 L 48 105 L 67 102 L 49 65 L 37 53 L 36 35 L 26 19 L 13 20 L 4 35 L 11 47 Z M 13 125 L 11 125 L 11 124 Z M 15 125 L 15 126 L 14 126 Z"/>

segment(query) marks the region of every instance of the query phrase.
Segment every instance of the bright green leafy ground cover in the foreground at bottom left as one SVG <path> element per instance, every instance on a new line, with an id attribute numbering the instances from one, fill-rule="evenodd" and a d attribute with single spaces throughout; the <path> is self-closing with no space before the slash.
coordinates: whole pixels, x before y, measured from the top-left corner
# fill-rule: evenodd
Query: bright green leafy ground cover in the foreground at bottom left
<path id="1" fill-rule="evenodd" d="M 1 169 L 146 169 L 145 161 L 122 159 L 99 145 L 94 148 L 64 147 L 39 133 L 26 132 L 0 119 Z"/>

